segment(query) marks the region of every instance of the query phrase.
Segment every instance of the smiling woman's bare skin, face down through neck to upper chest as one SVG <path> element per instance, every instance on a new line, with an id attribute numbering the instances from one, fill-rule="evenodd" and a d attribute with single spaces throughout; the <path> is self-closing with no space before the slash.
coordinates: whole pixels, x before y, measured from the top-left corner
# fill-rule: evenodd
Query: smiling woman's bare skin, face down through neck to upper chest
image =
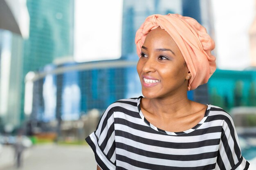
<path id="1" fill-rule="evenodd" d="M 141 111 L 154 126 L 169 132 L 189 130 L 204 117 L 207 105 L 187 98 L 191 73 L 171 36 L 158 27 L 150 31 L 137 64 Z M 152 82 L 147 82 L 151 79 Z M 101 170 L 97 166 L 97 170 Z"/>

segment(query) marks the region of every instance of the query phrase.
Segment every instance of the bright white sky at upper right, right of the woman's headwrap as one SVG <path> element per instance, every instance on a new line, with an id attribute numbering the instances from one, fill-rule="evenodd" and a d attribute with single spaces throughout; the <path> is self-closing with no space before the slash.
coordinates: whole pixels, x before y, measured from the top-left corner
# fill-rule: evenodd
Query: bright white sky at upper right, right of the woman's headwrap
<path id="1" fill-rule="evenodd" d="M 255 0 L 212 0 L 217 59 L 220 69 L 243 70 L 250 66 L 249 28 Z"/>

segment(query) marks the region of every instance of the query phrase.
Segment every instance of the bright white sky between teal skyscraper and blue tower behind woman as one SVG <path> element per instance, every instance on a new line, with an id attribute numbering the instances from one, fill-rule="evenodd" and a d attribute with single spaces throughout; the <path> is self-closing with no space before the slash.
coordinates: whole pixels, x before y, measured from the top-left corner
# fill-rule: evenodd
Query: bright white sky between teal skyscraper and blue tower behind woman
<path id="1" fill-rule="evenodd" d="M 87 62 L 119 58 L 123 0 L 74 2 L 74 60 Z"/>

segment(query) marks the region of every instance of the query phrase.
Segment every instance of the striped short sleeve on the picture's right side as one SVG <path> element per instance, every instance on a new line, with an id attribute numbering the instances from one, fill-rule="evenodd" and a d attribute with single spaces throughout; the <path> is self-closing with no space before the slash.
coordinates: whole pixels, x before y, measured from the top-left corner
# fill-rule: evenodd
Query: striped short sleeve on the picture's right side
<path id="1" fill-rule="evenodd" d="M 247 170 L 249 162 L 241 155 L 238 135 L 230 115 L 226 115 L 218 151 L 216 170 Z"/>

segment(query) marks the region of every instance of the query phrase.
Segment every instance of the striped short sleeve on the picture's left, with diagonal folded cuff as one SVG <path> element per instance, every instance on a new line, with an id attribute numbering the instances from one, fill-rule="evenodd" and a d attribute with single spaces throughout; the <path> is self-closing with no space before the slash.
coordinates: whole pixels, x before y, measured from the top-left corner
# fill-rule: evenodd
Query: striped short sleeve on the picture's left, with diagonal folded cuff
<path id="1" fill-rule="evenodd" d="M 96 162 L 102 170 L 115 170 L 114 112 L 111 106 L 101 116 L 94 132 L 85 140 L 92 148 Z"/>

